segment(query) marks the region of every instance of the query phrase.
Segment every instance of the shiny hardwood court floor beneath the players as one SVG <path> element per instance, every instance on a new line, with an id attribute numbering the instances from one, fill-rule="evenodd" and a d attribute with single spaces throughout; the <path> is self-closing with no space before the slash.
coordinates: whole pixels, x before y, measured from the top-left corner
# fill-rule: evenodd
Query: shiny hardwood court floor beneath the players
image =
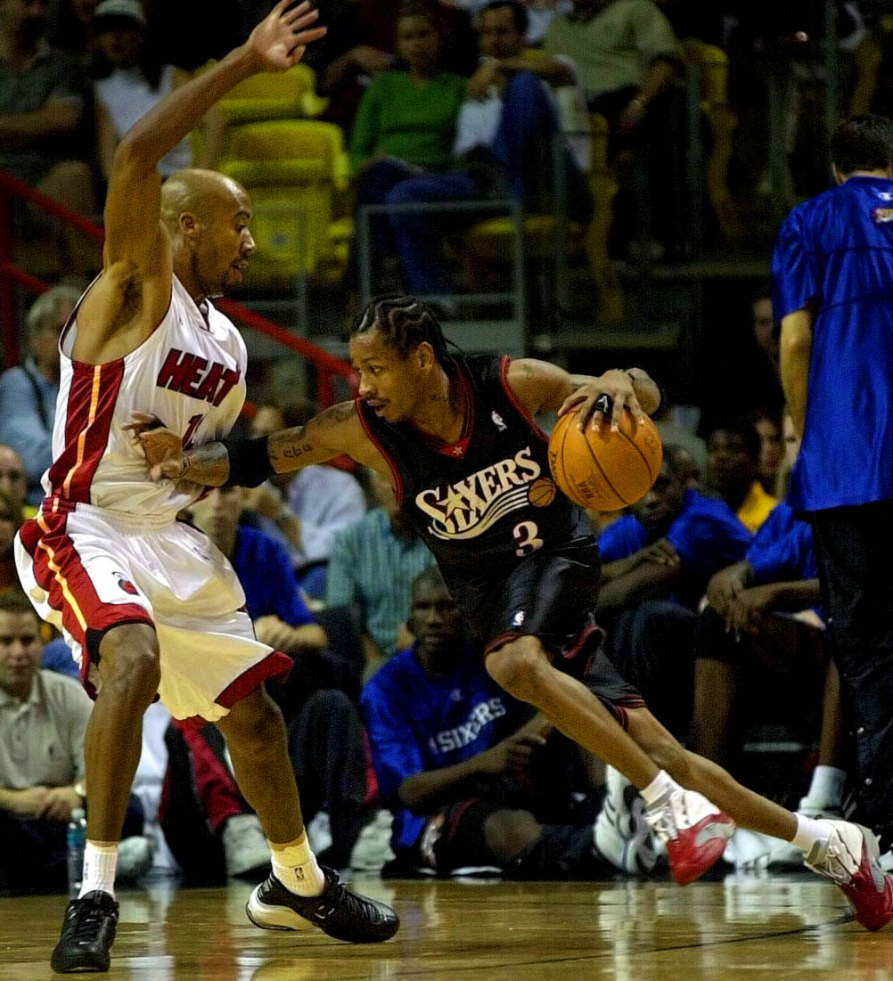
<path id="1" fill-rule="evenodd" d="M 121 896 L 110 979 L 348 981 L 371 978 L 616 981 L 893 978 L 893 926 L 869 934 L 812 876 L 670 882 L 478 883 L 361 880 L 402 927 L 388 944 L 261 931 L 248 887 Z M 64 900 L 0 900 L 0 978 L 51 978 Z"/>

